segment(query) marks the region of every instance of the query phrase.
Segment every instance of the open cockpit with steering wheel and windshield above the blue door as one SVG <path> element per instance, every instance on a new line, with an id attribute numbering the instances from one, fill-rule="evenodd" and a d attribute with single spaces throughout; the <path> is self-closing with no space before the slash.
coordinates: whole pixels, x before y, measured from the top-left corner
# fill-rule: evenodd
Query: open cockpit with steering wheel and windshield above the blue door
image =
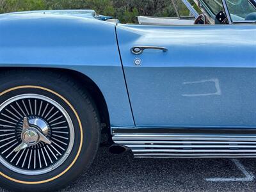
<path id="1" fill-rule="evenodd" d="M 139 24 L 150 25 L 193 25 L 193 24 L 236 24 L 256 22 L 255 0 L 193 0 L 193 6 L 187 0 L 172 0 L 176 17 L 139 16 Z M 225 7 L 227 9 L 225 9 Z M 187 10 L 186 14 L 180 13 Z M 228 11 L 227 11 L 228 10 Z M 199 13 L 198 13 L 199 12 Z M 228 22 L 227 13 L 232 23 Z"/>

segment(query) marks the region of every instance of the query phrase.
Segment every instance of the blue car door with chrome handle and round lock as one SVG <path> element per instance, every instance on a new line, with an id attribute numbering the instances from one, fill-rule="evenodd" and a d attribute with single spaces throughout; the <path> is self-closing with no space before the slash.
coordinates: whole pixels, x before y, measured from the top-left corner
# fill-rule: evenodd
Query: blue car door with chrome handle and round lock
<path id="1" fill-rule="evenodd" d="M 116 30 L 136 127 L 256 127 L 255 25 Z"/>

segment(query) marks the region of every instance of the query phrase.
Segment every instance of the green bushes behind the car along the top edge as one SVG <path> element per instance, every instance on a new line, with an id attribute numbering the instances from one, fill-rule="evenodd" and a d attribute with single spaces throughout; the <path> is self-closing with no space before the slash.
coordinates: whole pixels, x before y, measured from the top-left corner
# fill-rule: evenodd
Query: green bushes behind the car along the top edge
<path id="1" fill-rule="evenodd" d="M 172 0 L 0 0 L 0 13 L 63 9 L 91 9 L 129 23 L 138 15 L 176 17 Z"/>

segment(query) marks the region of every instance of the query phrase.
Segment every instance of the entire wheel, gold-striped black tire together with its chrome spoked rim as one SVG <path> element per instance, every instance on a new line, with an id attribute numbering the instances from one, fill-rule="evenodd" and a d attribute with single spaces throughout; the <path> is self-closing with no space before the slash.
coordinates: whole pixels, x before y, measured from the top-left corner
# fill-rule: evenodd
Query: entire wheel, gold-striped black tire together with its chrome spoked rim
<path id="1" fill-rule="evenodd" d="M 57 191 L 88 170 L 102 122 L 80 80 L 47 68 L 1 71 L 1 188 Z"/>

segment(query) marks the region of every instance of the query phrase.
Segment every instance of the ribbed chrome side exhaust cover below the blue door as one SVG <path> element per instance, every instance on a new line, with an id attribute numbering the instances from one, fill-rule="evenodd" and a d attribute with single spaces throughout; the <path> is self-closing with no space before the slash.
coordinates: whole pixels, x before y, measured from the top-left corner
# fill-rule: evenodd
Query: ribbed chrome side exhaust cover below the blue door
<path id="1" fill-rule="evenodd" d="M 256 132 L 113 133 L 113 141 L 131 148 L 138 158 L 245 158 L 256 157 Z M 203 132 L 203 131 L 202 131 Z M 244 132 L 244 133 L 243 133 Z"/>

